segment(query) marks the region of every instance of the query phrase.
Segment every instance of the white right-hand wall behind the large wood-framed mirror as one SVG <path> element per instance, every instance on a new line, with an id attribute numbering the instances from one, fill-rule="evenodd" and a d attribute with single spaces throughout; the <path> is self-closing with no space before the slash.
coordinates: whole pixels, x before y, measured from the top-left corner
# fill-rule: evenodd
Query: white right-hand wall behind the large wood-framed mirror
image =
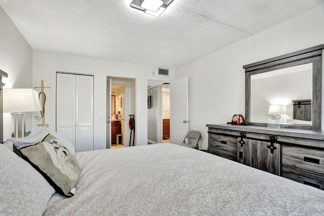
<path id="1" fill-rule="evenodd" d="M 245 114 L 242 66 L 324 44 L 323 23 L 321 6 L 175 69 L 175 78 L 189 76 L 189 129 L 201 132 L 203 148 L 206 124 Z"/>

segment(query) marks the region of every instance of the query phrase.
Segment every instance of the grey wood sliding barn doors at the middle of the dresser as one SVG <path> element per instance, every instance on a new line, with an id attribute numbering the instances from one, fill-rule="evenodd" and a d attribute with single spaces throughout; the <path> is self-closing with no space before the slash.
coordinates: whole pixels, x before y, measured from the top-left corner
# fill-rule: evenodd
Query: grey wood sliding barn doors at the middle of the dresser
<path id="1" fill-rule="evenodd" d="M 279 175 L 280 145 L 238 138 L 237 162 Z"/>

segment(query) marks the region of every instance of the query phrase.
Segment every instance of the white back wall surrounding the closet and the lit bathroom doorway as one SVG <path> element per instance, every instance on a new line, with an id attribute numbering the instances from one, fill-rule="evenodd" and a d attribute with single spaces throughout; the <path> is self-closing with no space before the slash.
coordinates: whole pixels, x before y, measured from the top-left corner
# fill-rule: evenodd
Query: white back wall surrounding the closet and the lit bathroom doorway
<path id="1" fill-rule="evenodd" d="M 106 146 L 106 78 L 127 77 L 135 79 L 135 120 L 137 145 L 147 144 L 147 77 L 157 67 L 117 62 L 106 59 L 88 58 L 75 55 L 33 51 L 33 85 L 39 85 L 41 79 L 46 87 L 46 123 L 55 131 L 56 71 L 84 73 L 94 75 L 94 149 Z M 174 70 L 170 70 L 173 78 Z M 155 76 L 156 77 L 156 76 Z M 99 118 L 103 112 L 103 118 Z M 33 128 L 37 128 L 36 123 Z"/>

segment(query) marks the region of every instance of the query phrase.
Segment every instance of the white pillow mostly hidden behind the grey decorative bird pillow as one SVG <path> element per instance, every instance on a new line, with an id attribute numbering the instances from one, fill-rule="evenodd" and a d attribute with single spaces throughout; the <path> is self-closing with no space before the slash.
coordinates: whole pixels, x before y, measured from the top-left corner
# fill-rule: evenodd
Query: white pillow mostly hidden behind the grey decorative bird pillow
<path id="1" fill-rule="evenodd" d="M 43 126 L 36 134 L 24 138 L 10 138 L 9 140 L 14 144 L 14 152 L 19 155 L 18 150 L 25 146 L 35 145 L 36 143 L 42 142 L 46 136 L 49 134 L 54 135 L 57 139 L 61 141 L 72 154 L 75 154 L 74 146 L 67 139 L 59 136 L 57 133 L 51 131 L 48 125 Z M 19 155 L 20 156 L 20 155 Z"/>

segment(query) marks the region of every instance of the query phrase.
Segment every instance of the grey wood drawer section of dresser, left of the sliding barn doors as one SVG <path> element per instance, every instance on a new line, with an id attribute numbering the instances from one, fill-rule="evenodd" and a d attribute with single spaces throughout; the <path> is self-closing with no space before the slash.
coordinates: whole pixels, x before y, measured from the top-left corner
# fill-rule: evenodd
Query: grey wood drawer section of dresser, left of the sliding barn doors
<path id="1" fill-rule="evenodd" d="M 211 153 L 237 161 L 237 138 L 211 134 Z"/>

